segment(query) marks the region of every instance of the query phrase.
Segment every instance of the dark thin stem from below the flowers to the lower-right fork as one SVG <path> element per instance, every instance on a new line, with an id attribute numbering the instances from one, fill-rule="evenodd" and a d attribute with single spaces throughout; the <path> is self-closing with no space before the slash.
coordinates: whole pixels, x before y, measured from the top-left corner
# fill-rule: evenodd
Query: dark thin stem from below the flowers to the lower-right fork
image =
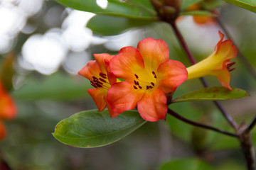
<path id="1" fill-rule="evenodd" d="M 174 116 L 175 118 L 177 118 L 178 120 L 181 120 L 183 121 L 184 123 L 188 123 L 190 125 L 193 125 L 193 126 L 197 126 L 197 127 L 200 127 L 200 128 L 205 128 L 205 129 L 208 129 L 208 130 L 213 130 L 215 132 L 220 132 L 222 134 L 225 134 L 225 135 L 228 135 L 228 136 L 231 136 L 231 137 L 238 137 L 238 135 L 234 134 L 234 133 L 231 133 L 231 132 L 226 132 L 225 130 L 221 130 L 221 129 L 218 129 L 218 128 L 214 128 L 212 126 L 209 126 L 209 125 L 203 125 L 201 123 L 197 123 L 197 122 L 194 122 L 192 120 L 188 120 L 184 117 L 182 117 L 181 115 L 179 115 L 178 113 L 172 111 L 171 109 L 168 108 L 168 111 L 167 113 L 169 113 L 169 115 L 172 115 Z"/>

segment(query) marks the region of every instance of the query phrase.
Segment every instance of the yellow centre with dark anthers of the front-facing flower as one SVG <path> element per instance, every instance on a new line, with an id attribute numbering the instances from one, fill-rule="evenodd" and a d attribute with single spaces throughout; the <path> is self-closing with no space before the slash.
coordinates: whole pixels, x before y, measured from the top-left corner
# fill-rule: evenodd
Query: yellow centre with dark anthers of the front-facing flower
<path id="1" fill-rule="evenodd" d="M 152 77 L 149 77 L 149 79 L 146 79 L 147 81 L 144 81 L 142 79 L 139 78 L 139 76 L 137 74 L 134 74 L 134 77 L 136 79 L 134 79 L 134 89 L 141 89 L 141 90 L 151 90 L 154 89 L 154 86 L 156 84 L 156 73 L 154 71 L 151 72 L 153 75 L 153 79 Z M 151 81 L 150 81 L 151 80 Z"/>

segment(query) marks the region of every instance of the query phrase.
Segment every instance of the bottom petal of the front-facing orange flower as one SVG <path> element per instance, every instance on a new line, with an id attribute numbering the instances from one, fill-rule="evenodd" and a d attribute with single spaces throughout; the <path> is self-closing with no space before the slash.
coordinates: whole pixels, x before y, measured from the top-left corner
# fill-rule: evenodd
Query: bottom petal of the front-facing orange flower
<path id="1" fill-rule="evenodd" d="M 156 122 L 164 119 L 167 113 L 166 96 L 159 88 L 146 92 L 138 102 L 138 111 L 146 121 Z"/>

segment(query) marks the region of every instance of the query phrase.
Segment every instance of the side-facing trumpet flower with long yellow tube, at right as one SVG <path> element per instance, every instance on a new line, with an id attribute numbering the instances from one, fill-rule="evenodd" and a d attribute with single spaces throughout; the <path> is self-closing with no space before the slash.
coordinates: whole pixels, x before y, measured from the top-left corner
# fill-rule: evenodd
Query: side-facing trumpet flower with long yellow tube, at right
<path id="1" fill-rule="evenodd" d="M 206 59 L 188 67 L 188 79 L 196 79 L 212 75 L 217 77 L 220 83 L 227 89 L 230 89 L 230 72 L 229 67 L 234 63 L 230 60 L 237 55 L 237 49 L 232 45 L 231 40 L 223 41 L 224 35 L 220 33 L 220 41 L 215 46 L 215 51 Z"/>

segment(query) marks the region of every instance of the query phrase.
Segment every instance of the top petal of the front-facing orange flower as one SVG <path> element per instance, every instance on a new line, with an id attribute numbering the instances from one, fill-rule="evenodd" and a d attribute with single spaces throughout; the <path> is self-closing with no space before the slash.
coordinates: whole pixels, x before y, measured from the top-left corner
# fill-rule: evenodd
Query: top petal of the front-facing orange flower
<path id="1" fill-rule="evenodd" d="M 145 67 L 156 72 L 156 69 L 163 62 L 169 60 L 169 48 L 164 40 L 146 38 L 138 43 L 139 50 L 144 60 Z"/>

